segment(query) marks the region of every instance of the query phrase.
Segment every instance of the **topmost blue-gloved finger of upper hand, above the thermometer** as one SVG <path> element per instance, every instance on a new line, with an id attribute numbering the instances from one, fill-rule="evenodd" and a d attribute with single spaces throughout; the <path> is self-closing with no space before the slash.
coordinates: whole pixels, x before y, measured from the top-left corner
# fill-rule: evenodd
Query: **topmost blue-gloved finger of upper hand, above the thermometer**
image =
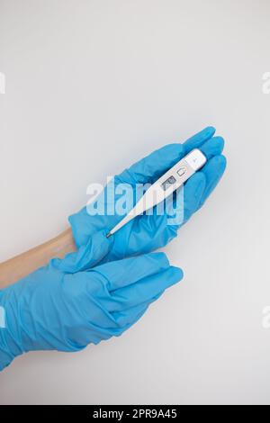
<path id="1" fill-rule="evenodd" d="M 168 144 L 163 148 L 159 148 L 147 157 L 139 160 L 139 162 L 130 166 L 128 170 L 125 170 L 117 177 L 120 178 L 122 182 L 129 184 L 146 184 L 148 182 L 154 182 L 160 175 L 163 175 L 169 167 L 174 166 L 178 160 L 184 157 L 187 152 L 193 148 L 200 147 L 203 142 L 211 139 L 214 132 L 214 128 L 208 127 L 194 135 L 191 139 L 185 141 L 184 144 Z"/>

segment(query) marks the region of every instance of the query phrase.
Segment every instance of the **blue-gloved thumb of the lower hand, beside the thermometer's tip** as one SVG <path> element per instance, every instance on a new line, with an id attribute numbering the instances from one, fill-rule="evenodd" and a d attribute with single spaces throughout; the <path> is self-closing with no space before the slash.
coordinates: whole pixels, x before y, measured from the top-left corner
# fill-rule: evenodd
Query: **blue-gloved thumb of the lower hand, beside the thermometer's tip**
<path id="1" fill-rule="evenodd" d="M 63 259 L 53 258 L 49 266 L 68 274 L 90 269 L 108 254 L 111 244 L 112 237 L 107 238 L 106 231 L 100 230 L 89 238 L 85 246 L 79 247 L 74 253 L 67 254 Z"/>

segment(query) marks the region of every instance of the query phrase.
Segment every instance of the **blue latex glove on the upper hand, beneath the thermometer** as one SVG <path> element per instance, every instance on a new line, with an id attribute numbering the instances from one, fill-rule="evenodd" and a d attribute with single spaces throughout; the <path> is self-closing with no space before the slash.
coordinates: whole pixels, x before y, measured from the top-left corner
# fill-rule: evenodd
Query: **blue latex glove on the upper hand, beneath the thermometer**
<path id="1" fill-rule="evenodd" d="M 158 215 L 154 210 L 153 215 L 144 214 L 136 217 L 112 236 L 112 248 L 108 255 L 103 258 L 103 262 L 148 253 L 158 247 L 164 247 L 172 238 L 175 238 L 177 230 L 191 218 L 193 213 L 202 207 L 202 204 L 220 181 L 226 167 L 226 159 L 221 156 L 224 140 L 221 137 L 213 137 L 214 133 L 215 129 L 209 127 L 185 141 L 184 144 L 166 145 L 129 169 L 124 170 L 121 175 L 114 177 L 116 186 L 118 184 L 130 184 L 135 191 L 136 184 L 153 184 L 168 168 L 174 166 L 193 148 L 200 148 L 208 159 L 202 170 L 194 174 L 184 184 L 184 199 L 182 201 L 184 210 L 183 218 L 180 221 L 178 220 L 175 224 L 168 224 L 169 210 L 163 215 Z M 107 187 L 105 193 L 106 190 Z M 183 197 L 183 191 L 178 195 Z M 104 195 L 105 200 L 106 195 Z M 175 201 L 177 201 L 177 198 L 175 199 L 173 196 L 173 205 L 175 205 Z M 105 229 L 109 232 L 122 217 L 117 214 L 91 216 L 86 208 L 70 216 L 69 221 L 76 246 L 85 245 L 88 239 L 98 230 Z"/>

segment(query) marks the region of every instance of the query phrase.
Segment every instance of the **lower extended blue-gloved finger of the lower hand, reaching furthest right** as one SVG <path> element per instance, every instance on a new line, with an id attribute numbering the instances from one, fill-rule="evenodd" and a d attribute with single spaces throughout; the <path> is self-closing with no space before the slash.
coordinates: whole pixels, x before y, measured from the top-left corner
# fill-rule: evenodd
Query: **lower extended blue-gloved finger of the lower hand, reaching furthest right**
<path id="1" fill-rule="evenodd" d="M 141 303 L 152 302 L 157 295 L 181 279 L 183 279 L 182 269 L 170 266 L 162 272 L 141 279 L 136 284 L 120 288 L 111 293 L 113 311 L 121 311 Z"/>

